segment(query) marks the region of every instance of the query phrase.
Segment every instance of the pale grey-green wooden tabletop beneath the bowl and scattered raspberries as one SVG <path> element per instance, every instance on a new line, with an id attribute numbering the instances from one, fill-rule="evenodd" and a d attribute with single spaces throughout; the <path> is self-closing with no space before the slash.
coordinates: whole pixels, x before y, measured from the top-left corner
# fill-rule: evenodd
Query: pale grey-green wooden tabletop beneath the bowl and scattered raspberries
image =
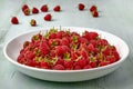
<path id="1" fill-rule="evenodd" d="M 85 4 L 84 11 L 79 11 L 76 4 Z M 22 4 L 40 8 L 47 3 L 53 20 L 43 20 L 45 13 L 25 17 Z M 60 4 L 61 12 L 53 12 Z M 92 18 L 89 8 L 98 6 L 99 18 Z M 11 24 L 12 16 L 19 18 L 20 24 Z M 38 27 L 31 27 L 29 21 L 35 19 Z M 130 47 L 127 60 L 114 72 L 93 80 L 82 82 L 51 82 L 30 78 L 16 70 L 4 58 L 2 49 L 11 38 L 31 30 L 44 27 L 69 26 L 86 27 L 109 31 L 122 38 Z M 133 0 L 0 0 L 0 89 L 133 89 Z"/>

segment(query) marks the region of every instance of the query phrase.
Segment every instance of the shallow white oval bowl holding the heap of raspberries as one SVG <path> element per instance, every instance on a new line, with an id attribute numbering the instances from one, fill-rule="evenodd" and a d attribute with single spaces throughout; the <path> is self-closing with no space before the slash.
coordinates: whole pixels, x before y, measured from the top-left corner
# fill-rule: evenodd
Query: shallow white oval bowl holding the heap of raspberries
<path id="1" fill-rule="evenodd" d="M 43 30 L 41 30 L 41 32 L 44 33 L 45 30 L 49 30 L 49 29 L 50 28 L 44 28 Z M 39 33 L 40 30 L 27 32 L 11 39 L 4 46 L 3 53 L 6 58 L 14 66 L 14 68 L 21 71 L 22 73 L 25 73 L 30 77 L 42 79 L 42 80 L 65 81 L 65 82 L 83 81 L 83 80 L 90 80 L 90 79 L 105 76 L 114 71 L 116 68 L 119 68 L 120 65 L 126 59 L 129 55 L 127 44 L 122 39 L 120 39 L 119 37 L 112 33 L 94 30 L 90 28 L 78 28 L 78 27 L 62 27 L 62 29 L 71 29 L 71 31 L 76 31 L 79 33 L 82 33 L 84 30 L 98 32 L 99 34 L 101 34 L 102 38 L 105 38 L 111 44 L 114 44 L 116 47 L 121 56 L 121 59 L 105 67 L 83 69 L 83 70 L 48 70 L 48 69 L 28 67 L 17 62 L 17 57 L 19 56 L 19 51 L 22 48 L 23 42 L 25 40 L 30 40 L 31 37 L 33 34 Z"/>

